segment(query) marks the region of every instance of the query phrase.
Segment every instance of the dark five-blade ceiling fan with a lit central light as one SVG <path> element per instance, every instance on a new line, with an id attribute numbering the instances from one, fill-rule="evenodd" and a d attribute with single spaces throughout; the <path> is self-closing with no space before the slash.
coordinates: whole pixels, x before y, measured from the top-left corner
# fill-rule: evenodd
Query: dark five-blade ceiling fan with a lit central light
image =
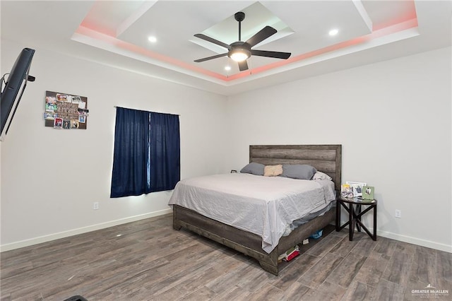
<path id="1" fill-rule="evenodd" d="M 234 61 L 237 61 L 239 64 L 239 70 L 245 71 L 248 69 L 248 64 L 246 64 L 246 59 L 251 57 L 251 55 L 256 55 L 258 57 L 274 57 L 276 59 L 288 59 L 290 57 L 290 52 L 274 52 L 274 51 L 266 51 L 266 50 L 255 50 L 251 49 L 254 45 L 266 40 L 266 38 L 270 37 L 277 33 L 277 30 L 271 26 L 266 26 L 262 28 L 258 33 L 250 37 L 246 42 L 242 42 L 242 20 L 245 18 L 245 13 L 239 11 L 234 14 L 235 20 L 239 22 L 239 40 L 237 42 L 233 42 L 231 45 L 227 45 L 224 42 L 220 42 L 218 40 L 213 39 L 212 37 L 208 37 L 207 35 L 203 35 L 202 33 L 197 33 L 194 35 L 195 37 L 199 37 L 200 39 L 206 40 L 216 45 L 220 45 L 221 47 L 225 47 L 229 50 L 223 54 L 213 55 L 212 57 L 205 57 L 203 59 L 196 59 L 197 63 L 201 61 L 208 61 L 210 59 L 217 59 L 218 57 L 230 57 Z"/>

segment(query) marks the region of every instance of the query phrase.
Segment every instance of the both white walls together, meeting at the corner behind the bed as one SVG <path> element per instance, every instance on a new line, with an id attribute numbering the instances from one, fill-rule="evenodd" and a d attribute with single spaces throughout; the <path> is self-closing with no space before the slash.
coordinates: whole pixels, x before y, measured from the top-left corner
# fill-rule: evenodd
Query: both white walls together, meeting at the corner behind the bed
<path id="1" fill-rule="evenodd" d="M 6 73 L 24 46 L 1 42 Z M 450 54 L 226 98 L 37 49 L 37 81 L 0 143 L 1 249 L 170 212 L 170 192 L 109 199 L 120 105 L 181 115 L 182 178 L 239 170 L 250 144 L 342 144 L 343 181 L 376 187 L 379 235 L 452 252 Z M 45 90 L 87 96 L 88 130 L 44 127 Z"/>

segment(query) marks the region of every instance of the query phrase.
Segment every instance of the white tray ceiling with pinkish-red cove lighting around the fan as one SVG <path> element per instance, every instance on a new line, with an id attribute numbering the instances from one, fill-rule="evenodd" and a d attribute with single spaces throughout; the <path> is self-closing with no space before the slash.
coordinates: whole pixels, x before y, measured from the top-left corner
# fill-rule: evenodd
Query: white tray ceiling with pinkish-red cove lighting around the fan
<path id="1" fill-rule="evenodd" d="M 222 95 L 347 69 L 451 45 L 451 1 L 5 1 L 1 38 L 64 52 Z M 253 49 L 249 70 L 226 49 L 197 37 L 242 40 L 270 25 L 278 33 Z M 328 31 L 339 30 L 331 37 Z M 157 37 L 150 43 L 148 36 Z M 230 71 L 225 66 L 230 65 Z"/>

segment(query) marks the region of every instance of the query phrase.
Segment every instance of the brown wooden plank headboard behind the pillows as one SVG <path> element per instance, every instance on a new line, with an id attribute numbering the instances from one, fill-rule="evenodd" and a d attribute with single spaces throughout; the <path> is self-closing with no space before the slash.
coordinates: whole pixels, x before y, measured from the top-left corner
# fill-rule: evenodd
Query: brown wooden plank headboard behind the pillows
<path id="1" fill-rule="evenodd" d="M 263 165 L 308 164 L 333 178 L 335 190 L 342 181 L 342 145 L 249 146 L 249 162 Z"/>

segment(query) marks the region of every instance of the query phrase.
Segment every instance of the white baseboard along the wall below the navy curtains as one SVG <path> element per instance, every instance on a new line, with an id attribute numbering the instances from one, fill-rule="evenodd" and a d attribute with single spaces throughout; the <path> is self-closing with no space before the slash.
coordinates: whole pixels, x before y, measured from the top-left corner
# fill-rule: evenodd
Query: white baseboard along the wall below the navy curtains
<path id="1" fill-rule="evenodd" d="M 168 214 L 168 213 L 172 213 L 171 208 L 167 208 L 167 209 L 160 210 L 160 211 L 154 211 L 151 213 L 145 213 L 145 214 L 141 214 L 139 216 L 131 216 L 129 218 L 121 218 L 119 220 L 112 220 L 112 221 L 109 221 L 106 223 L 90 225 L 87 227 L 77 228 L 77 229 L 68 230 L 68 231 L 64 231 L 64 232 L 58 232 L 58 233 L 54 233 L 54 234 L 30 238 L 29 240 L 21 240 L 19 242 L 11 242 L 10 244 L 2 244 L 0 246 L 0 252 L 28 247 L 33 244 L 40 244 L 42 242 L 49 242 L 51 240 L 59 240 L 60 238 L 64 238 L 64 237 L 69 237 L 69 236 L 78 235 L 78 234 L 82 234 L 82 233 L 86 233 L 86 232 L 109 228 L 109 227 L 113 227 L 115 225 L 121 225 L 121 224 L 125 224 L 125 223 L 134 222 L 136 220 L 144 220 L 145 218 L 153 218 L 155 216 L 162 216 L 162 215 Z"/>

